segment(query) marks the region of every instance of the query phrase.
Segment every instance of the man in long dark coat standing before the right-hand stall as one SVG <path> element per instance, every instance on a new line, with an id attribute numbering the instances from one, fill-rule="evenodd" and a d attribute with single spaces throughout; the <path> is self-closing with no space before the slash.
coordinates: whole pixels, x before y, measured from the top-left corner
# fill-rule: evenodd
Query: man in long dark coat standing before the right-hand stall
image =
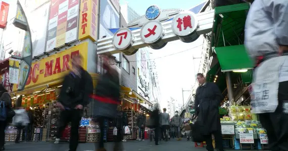
<path id="1" fill-rule="evenodd" d="M 200 86 L 196 91 L 194 106 L 197 120 L 203 126 L 201 131 L 206 140 L 206 149 L 214 150 L 212 143 L 212 134 L 214 134 L 216 148 L 222 151 L 221 123 L 218 108 L 222 100 L 222 94 L 216 84 L 205 81 L 202 73 L 197 74 L 197 80 Z"/>

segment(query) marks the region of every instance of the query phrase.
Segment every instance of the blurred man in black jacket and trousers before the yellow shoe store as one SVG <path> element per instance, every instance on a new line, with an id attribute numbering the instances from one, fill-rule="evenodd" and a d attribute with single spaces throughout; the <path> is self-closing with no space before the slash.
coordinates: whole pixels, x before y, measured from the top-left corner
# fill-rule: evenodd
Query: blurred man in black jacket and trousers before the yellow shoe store
<path id="1" fill-rule="evenodd" d="M 62 132 L 71 122 L 69 148 L 76 151 L 78 145 L 78 127 L 83 108 L 89 103 L 89 95 L 93 93 L 93 82 L 90 74 L 82 68 L 80 55 L 72 58 L 72 69 L 63 81 L 59 100 L 56 106 L 62 111 L 55 143 L 59 143 Z"/>

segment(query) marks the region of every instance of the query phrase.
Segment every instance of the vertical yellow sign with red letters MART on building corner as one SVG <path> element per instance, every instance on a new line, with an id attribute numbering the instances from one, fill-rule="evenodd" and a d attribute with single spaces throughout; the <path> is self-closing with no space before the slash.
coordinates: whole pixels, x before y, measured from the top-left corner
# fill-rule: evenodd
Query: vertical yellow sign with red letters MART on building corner
<path id="1" fill-rule="evenodd" d="M 81 0 L 80 2 L 79 39 L 89 38 L 97 41 L 97 0 Z"/>

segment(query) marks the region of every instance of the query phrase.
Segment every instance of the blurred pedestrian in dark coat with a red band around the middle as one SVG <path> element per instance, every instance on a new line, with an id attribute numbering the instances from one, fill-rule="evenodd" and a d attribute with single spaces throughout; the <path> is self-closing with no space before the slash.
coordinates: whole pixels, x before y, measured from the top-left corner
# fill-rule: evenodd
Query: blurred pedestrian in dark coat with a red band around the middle
<path id="1" fill-rule="evenodd" d="M 120 105 L 120 81 L 119 73 L 112 67 L 111 60 L 115 59 L 110 54 L 101 55 L 103 59 L 103 68 L 106 72 L 101 74 L 95 95 L 93 95 L 93 119 L 99 122 L 100 125 L 100 141 L 97 151 L 106 151 L 104 147 L 104 129 L 105 121 L 115 120 L 118 115 L 117 106 Z M 122 128 L 117 128 L 117 138 L 114 145 L 114 151 L 123 150 L 123 144 L 121 143 L 121 131 Z"/>

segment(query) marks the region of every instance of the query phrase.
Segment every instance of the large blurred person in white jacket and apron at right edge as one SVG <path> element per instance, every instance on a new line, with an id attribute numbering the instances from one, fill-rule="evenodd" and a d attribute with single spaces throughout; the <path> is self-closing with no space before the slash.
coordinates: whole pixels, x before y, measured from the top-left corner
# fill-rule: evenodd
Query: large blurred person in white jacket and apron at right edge
<path id="1" fill-rule="evenodd" d="M 251 112 L 267 130 L 270 150 L 288 150 L 288 1 L 255 0 L 244 35 L 256 62 Z"/>

